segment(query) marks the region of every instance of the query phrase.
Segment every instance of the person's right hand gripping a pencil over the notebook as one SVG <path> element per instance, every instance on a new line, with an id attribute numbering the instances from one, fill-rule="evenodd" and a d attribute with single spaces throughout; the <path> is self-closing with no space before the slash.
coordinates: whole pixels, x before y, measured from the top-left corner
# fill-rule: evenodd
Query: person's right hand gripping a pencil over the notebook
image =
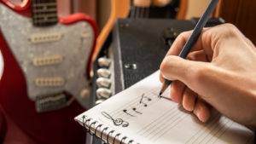
<path id="1" fill-rule="evenodd" d="M 209 106 L 228 118 L 256 128 L 256 48 L 237 28 L 205 28 L 187 60 L 177 55 L 192 32 L 181 33 L 160 66 L 160 80 L 172 80 L 172 101 L 202 121 Z"/>

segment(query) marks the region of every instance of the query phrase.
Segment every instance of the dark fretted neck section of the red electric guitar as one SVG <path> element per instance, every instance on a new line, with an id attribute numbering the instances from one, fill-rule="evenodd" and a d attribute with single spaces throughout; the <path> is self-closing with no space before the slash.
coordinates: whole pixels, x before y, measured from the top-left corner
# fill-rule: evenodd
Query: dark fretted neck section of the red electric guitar
<path id="1" fill-rule="evenodd" d="M 52 26 L 58 22 L 56 0 L 32 0 L 33 26 Z"/>

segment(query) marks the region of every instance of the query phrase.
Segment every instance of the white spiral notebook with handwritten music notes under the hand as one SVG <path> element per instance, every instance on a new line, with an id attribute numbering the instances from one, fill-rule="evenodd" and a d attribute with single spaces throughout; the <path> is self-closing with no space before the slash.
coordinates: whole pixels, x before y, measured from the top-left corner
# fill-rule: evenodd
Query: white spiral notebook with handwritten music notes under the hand
<path id="1" fill-rule="evenodd" d="M 253 143 L 253 131 L 212 112 L 202 124 L 177 103 L 170 89 L 158 97 L 159 71 L 75 118 L 90 135 L 108 143 Z"/>

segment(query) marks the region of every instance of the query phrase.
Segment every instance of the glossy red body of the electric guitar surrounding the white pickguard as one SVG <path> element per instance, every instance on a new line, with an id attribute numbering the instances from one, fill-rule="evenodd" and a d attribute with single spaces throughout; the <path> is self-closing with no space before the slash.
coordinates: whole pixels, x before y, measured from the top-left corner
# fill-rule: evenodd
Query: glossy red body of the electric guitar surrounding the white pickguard
<path id="1" fill-rule="evenodd" d="M 31 3 L 25 0 L 21 5 L 14 5 L 7 0 L 0 0 L 9 9 L 17 14 L 30 18 Z M 2 19 L 2 18 L 0 18 Z M 73 14 L 59 19 L 63 25 L 72 25 L 78 21 L 86 21 L 93 27 L 95 33 L 93 48 L 96 41 L 96 24 L 86 14 Z M 4 25 L 4 24 L 3 24 Z M 13 31 L 13 30 L 9 30 Z M 3 37 L 0 29 L 0 52 L 3 55 L 3 74 L 0 72 L 0 103 L 4 114 L 7 115 L 33 141 L 44 144 L 85 143 L 85 133 L 73 118 L 85 109 L 74 101 L 69 107 L 52 112 L 37 112 L 34 101 L 27 96 L 26 79 L 20 69 L 9 43 Z M 91 60 L 91 58 L 89 59 Z M 90 63 L 90 61 L 88 61 Z M 89 66 L 87 66 L 89 67 Z M 7 127 L 9 129 L 9 127 Z M 22 143 L 22 141 L 20 141 Z"/>

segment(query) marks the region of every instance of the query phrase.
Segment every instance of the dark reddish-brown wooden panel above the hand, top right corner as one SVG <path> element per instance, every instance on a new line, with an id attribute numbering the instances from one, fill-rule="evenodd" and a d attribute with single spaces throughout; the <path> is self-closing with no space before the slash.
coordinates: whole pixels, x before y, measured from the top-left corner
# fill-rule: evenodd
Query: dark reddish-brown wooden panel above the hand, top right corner
<path id="1" fill-rule="evenodd" d="M 256 44 L 256 0 L 222 0 L 219 16 Z"/>

